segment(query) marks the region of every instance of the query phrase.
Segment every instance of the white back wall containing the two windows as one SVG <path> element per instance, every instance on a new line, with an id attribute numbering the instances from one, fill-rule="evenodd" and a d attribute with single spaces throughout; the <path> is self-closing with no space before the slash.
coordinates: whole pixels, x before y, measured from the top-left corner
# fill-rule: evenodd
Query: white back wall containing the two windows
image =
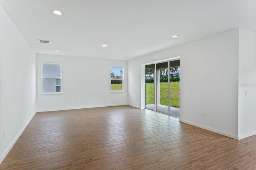
<path id="1" fill-rule="evenodd" d="M 41 63 L 62 64 L 62 94 L 41 94 Z M 124 92 L 110 92 L 111 66 L 124 67 Z M 127 73 L 127 61 L 36 54 L 37 110 L 126 105 Z"/>

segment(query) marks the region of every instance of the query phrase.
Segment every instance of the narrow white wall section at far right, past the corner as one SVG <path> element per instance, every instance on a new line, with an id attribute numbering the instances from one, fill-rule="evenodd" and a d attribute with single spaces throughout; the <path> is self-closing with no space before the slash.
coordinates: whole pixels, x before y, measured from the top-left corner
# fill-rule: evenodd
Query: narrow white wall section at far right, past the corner
<path id="1" fill-rule="evenodd" d="M 239 29 L 238 137 L 256 134 L 256 33 Z"/>

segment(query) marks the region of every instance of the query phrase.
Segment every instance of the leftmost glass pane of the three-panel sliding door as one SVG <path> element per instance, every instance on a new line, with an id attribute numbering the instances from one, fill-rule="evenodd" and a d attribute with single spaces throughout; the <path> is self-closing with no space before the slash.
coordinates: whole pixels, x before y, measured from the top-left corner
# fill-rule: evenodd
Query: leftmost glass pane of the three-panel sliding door
<path id="1" fill-rule="evenodd" d="M 154 104 L 154 70 L 155 64 L 146 65 L 145 68 L 145 103 L 146 108 L 155 110 Z"/>

